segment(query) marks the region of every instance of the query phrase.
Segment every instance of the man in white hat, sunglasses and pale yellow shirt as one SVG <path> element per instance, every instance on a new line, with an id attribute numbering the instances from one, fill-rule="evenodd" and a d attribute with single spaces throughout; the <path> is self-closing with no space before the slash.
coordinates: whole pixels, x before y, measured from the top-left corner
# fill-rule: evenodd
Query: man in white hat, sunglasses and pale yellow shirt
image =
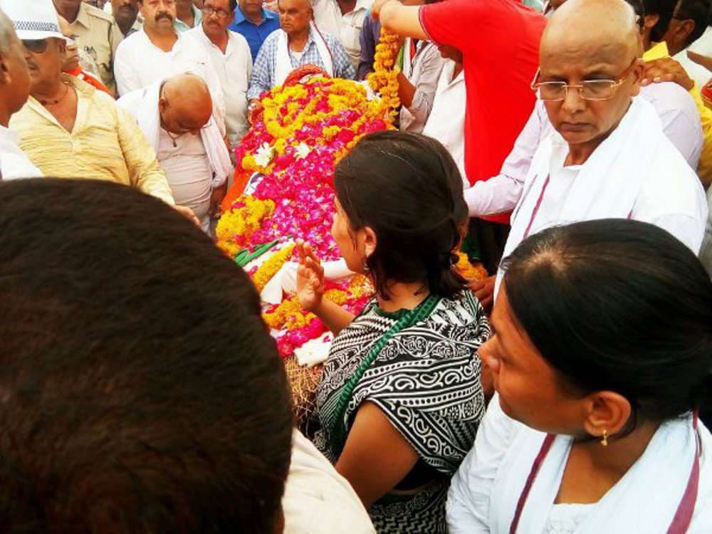
<path id="1" fill-rule="evenodd" d="M 0 0 L 0 7 L 16 25 L 30 71 L 30 98 L 11 128 L 33 163 L 48 176 L 117 182 L 174 206 L 156 152 L 135 119 L 106 93 L 62 73 L 66 41 L 51 1 Z M 23 29 L 28 26 L 41 29 Z M 189 208 L 175 207 L 194 219 Z"/>

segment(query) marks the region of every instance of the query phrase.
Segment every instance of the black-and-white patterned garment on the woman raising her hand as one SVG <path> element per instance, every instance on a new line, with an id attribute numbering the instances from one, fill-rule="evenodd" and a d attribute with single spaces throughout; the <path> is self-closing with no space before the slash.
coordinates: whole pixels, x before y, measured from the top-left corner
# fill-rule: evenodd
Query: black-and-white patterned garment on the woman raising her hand
<path id="1" fill-rule="evenodd" d="M 317 389 L 322 429 L 315 436 L 316 446 L 332 462 L 337 458 L 328 429 L 341 389 L 398 318 L 378 310 L 374 299 L 333 342 Z M 449 478 L 471 449 L 484 414 L 476 352 L 489 335 L 484 310 L 472 293 L 441 299 L 429 318 L 387 342 L 355 387 L 341 422 L 345 430 L 362 402 L 373 402 L 419 458 L 443 475 L 414 495 L 389 495 L 375 503 L 371 514 L 379 533 L 445 532 Z"/>

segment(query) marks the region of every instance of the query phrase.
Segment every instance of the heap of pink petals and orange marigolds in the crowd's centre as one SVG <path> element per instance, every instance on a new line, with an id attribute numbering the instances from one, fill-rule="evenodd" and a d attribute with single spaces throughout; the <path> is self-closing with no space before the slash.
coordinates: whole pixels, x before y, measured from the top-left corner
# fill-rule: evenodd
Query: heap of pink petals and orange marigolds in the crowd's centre
<path id="1" fill-rule="evenodd" d="M 384 94 L 388 94 L 387 92 Z M 330 233 L 334 214 L 334 168 L 361 137 L 392 128 L 393 102 L 367 98 L 366 88 L 351 80 L 315 75 L 261 95 L 261 112 L 236 150 L 240 192 L 223 204 L 217 229 L 219 246 L 235 256 L 271 241 L 303 239 L 323 261 L 340 258 Z M 246 175 L 262 174 L 255 189 L 241 195 Z M 293 247 L 268 258 L 251 277 L 262 290 Z M 362 276 L 328 283 L 325 298 L 357 313 L 372 288 Z M 263 317 L 284 357 L 326 330 L 315 315 L 300 309 L 294 297 L 265 310 Z"/>

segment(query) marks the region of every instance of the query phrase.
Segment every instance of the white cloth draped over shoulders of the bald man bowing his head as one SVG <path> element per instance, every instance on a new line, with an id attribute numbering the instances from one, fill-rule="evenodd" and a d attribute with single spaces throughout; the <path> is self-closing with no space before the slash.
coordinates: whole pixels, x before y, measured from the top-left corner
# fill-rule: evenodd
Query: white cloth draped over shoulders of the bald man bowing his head
<path id="1" fill-rule="evenodd" d="M 129 93 L 117 100 L 117 104 L 127 109 L 138 122 L 144 135 L 158 152 L 161 117 L 158 109 L 161 82 L 147 88 Z M 205 147 L 213 172 L 213 187 L 221 186 L 232 172 L 230 154 L 227 150 L 215 115 L 208 125 L 200 130 L 200 137 Z"/>

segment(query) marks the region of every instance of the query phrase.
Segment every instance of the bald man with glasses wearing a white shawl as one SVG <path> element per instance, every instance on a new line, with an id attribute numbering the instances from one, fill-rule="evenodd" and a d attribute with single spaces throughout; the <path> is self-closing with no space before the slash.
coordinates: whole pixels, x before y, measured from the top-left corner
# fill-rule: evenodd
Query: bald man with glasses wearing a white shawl
<path id="1" fill-rule="evenodd" d="M 508 206 L 504 257 L 550 226 L 609 218 L 655 224 L 699 252 L 704 191 L 638 96 L 640 46 L 636 15 L 623 0 L 569 0 L 552 16 L 532 88 L 555 131 L 540 142 Z"/>

